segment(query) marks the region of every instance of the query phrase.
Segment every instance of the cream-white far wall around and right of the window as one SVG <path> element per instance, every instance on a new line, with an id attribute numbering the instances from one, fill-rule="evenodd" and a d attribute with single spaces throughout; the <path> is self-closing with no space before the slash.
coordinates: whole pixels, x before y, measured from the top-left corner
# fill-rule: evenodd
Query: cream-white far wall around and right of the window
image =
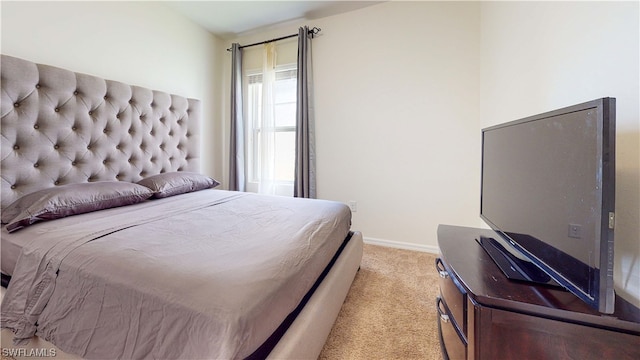
<path id="1" fill-rule="evenodd" d="M 370 242 L 436 251 L 439 223 L 476 225 L 479 4 L 388 2 L 233 41 L 305 24 L 322 28 L 318 197 L 357 201 L 352 227 Z"/>

